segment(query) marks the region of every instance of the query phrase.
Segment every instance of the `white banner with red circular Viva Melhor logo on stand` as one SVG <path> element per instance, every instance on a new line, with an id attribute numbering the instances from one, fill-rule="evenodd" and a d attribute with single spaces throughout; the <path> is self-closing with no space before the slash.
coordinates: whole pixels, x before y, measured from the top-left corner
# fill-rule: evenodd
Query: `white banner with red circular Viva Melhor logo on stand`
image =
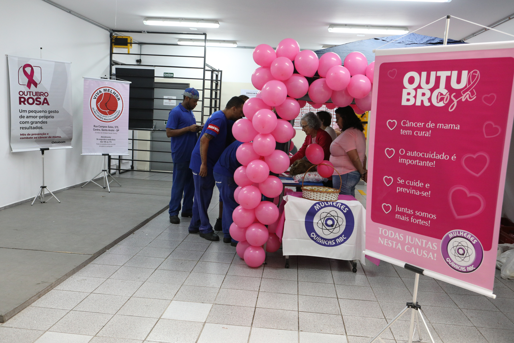
<path id="1" fill-rule="evenodd" d="M 82 155 L 128 155 L 129 85 L 84 78 Z"/>

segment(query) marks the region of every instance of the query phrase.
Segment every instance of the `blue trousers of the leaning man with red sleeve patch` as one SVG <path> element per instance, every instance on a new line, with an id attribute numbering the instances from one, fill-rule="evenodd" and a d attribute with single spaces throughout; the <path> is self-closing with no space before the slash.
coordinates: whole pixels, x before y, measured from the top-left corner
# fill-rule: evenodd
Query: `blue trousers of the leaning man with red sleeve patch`
<path id="1" fill-rule="evenodd" d="M 189 224 L 189 231 L 200 230 L 201 233 L 213 232 L 209 222 L 209 205 L 211 204 L 212 191 L 214 190 L 214 176 L 207 173 L 203 177 L 193 172 L 194 202 L 193 218 Z"/>

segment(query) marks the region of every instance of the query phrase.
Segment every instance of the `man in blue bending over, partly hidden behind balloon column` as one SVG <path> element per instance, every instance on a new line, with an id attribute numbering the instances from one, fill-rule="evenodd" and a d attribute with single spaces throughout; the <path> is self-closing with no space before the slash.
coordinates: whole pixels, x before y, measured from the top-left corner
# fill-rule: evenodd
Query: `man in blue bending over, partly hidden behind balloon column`
<path id="1" fill-rule="evenodd" d="M 243 142 L 233 139 L 233 142 L 219 156 L 213 169 L 214 180 L 216 180 L 216 186 L 223 201 L 223 242 L 231 243 L 232 246 L 235 246 L 237 241 L 230 237 L 229 228 L 233 222 L 232 212 L 239 206 L 234 200 L 234 191 L 237 188 L 237 184 L 234 181 L 234 172 L 241 166 L 241 163 L 239 163 L 235 156 L 235 152 L 242 144 Z"/>

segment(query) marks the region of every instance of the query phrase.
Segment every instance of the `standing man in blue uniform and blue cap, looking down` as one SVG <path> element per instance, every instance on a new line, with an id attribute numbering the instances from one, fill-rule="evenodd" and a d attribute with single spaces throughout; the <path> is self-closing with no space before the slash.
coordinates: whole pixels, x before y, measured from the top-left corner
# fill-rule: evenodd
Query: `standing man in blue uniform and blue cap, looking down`
<path id="1" fill-rule="evenodd" d="M 187 88 L 182 94 L 182 103 L 170 111 L 166 124 L 166 135 L 171 137 L 171 157 L 173 159 L 173 184 L 171 186 L 170 223 L 179 224 L 178 212 L 182 194 L 182 217 L 193 216 L 194 181 L 189 168 L 191 153 L 196 144 L 196 132 L 201 127 L 196 125 L 193 109 L 199 99 L 198 91 Z"/>

